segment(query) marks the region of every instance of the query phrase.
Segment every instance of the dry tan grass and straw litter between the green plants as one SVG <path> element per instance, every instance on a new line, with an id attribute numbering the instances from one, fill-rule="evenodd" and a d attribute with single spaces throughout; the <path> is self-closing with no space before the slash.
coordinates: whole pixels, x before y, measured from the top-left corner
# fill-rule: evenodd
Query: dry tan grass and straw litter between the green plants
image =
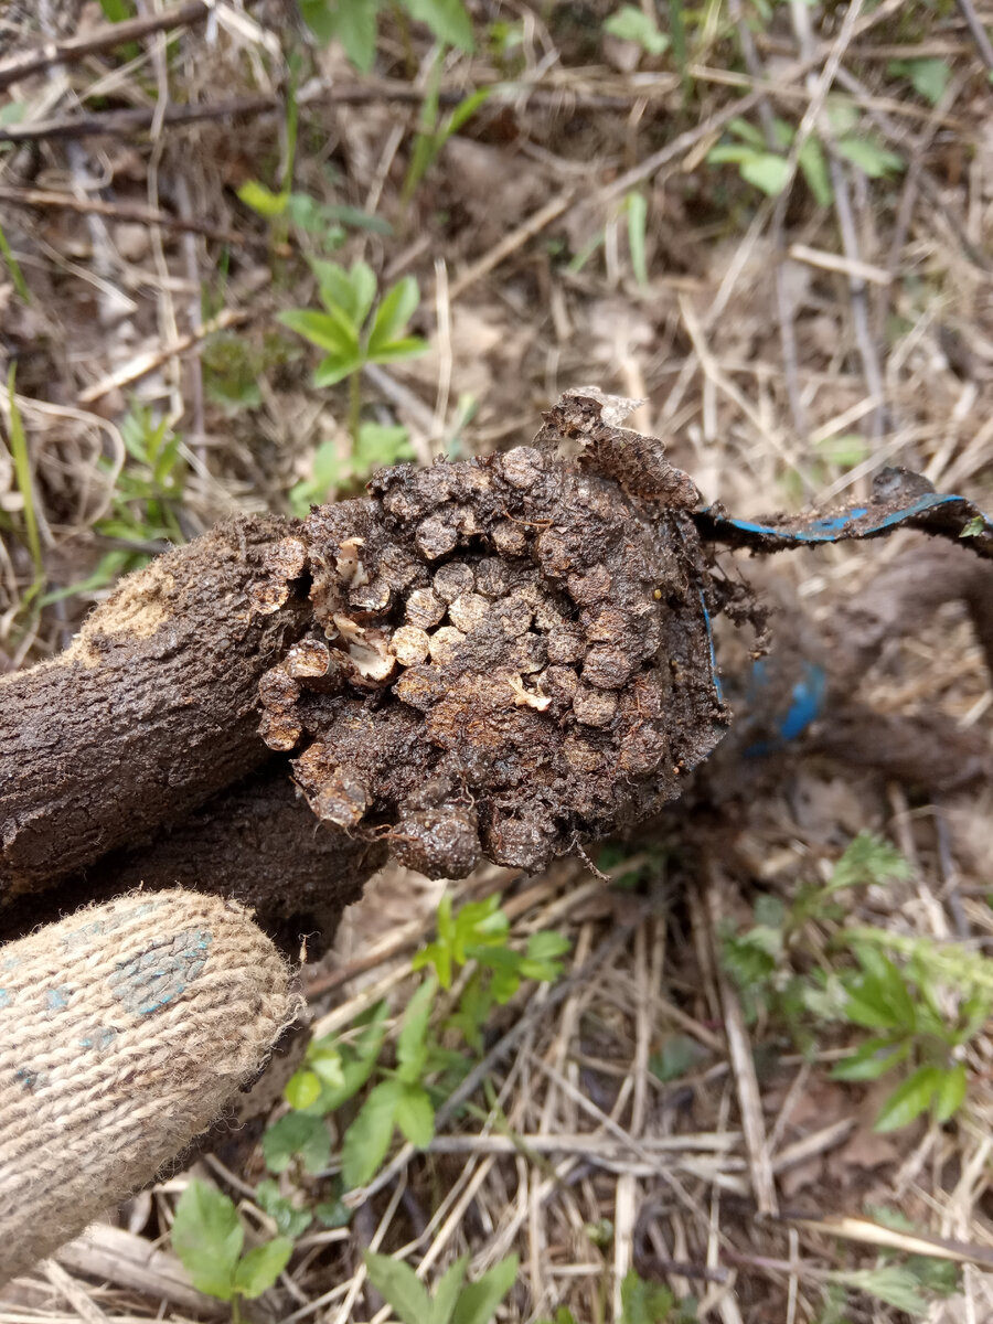
<path id="1" fill-rule="evenodd" d="M 56 5 L 37 11 L 4 17 L 0 52 L 75 23 Z M 320 442 L 347 453 L 344 392 L 315 392 L 301 347 L 274 338 L 274 314 L 312 298 L 306 240 L 291 230 L 274 241 L 234 196 L 248 179 L 279 177 L 290 48 L 303 52 L 295 188 L 387 218 L 391 233 L 350 229 L 340 253 L 364 256 L 384 279 L 410 271 L 421 282 L 432 352 L 364 381 L 368 417 L 406 425 L 421 461 L 527 441 L 560 389 L 593 380 L 646 397 L 642 430 L 669 437 L 702 490 L 744 515 L 865 493 L 882 463 L 990 504 L 993 101 L 972 4 L 822 12 L 793 0 L 767 19 L 760 7 L 708 5 L 694 11 L 682 71 L 671 52 L 639 58 L 604 42 L 606 12 L 474 7 L 479 30 L 519 24 L 520 44 L 506 58 L 446 58 L 448 105 L 496 90 L 406 205 L 433 53 L 422 30 L 408 40 L 392 19 L 368 79 L 336 48 L 307 49 L 275 0 L 217 0 L 207 26 L 159 30 L 123 54 L 94 49 L 8 89 L 21 127 L 42 126 L 0 156 L 3 232 L 32 293 L 25 303 L 0 273 L 0 356 L 17 361 L 49 589 L 85 579 L 109 549 L 146 549 L 93 527 L 126 463 L 131 399 L 183 433 L 189 535 L 236 507 L 285 508 Z M 984 19 L 993 25 L 993 11 Z M 87 4 L 79 30 L 101 21 Z M 908 58 L 948 65 L 937 105 L 894 70 Z M 780 117 L 797 130 L 796 169 L 805 135 L 830 136 L 833 90 L 904 171 L 870 180 L 834 159 L 831 205 L 816 207 L 800 180 L 765 199 L 733 167 L 706 162 L 735 115 L 767 134 Z M 236 101 L 237 115 L 211 110 Z M 169 106 L 192 110 L 183 119 Z M 60 128 L 98 117 L 102 132 Z M 647 201 L 646 286 L 626 226 L 634 189 Z M 569 262 L 589 245 L 589 261 Z M 250 408 L 217 402 L 218 344 L 257 381 Z M 9 422 L 4 391 L 0 414 Z M 0 451 L 8 666 L 62 647 L 103 592 L 25 608 L 34 571 L 19 536 L 24 498 Z M 824 622 L 894 555 L 825 549 L 773 576 Z M 953 614 L 894 645 L 862 698 L 890 712 L 937 706 L 989 732 L 982 658 Z M 759 891 L 789 895 L 798 879 L 824 878 L 863 829 L 890 834 L 912 878 L 853 918 L 986 949 L 989 792 L 928 804 L 804 759 L 763 779 L 761 794 L 749 772 L 720 798 L 695 793 L 669 813 L 653 838 L 663 863 L 634 892 L 608 888 L 581 862 L 531 882 L 489 870 L 461 884 L 503 890 L 516 936 L 567 931 L 568 974 L 495 1026 L 485 1121 L 449 1121 L 429 1152 L 401 1151 L 356 1201 L 351 1234 L 306 1234 L 265 1317 L 385 1320 L 364 1283 L 359 1250 L 371 1246 L 429 1279 L 463 1251 L 479 1271 L 516 1250 L 507 1320 L 560 1303 L 579 1321 L 613 1319 L 632 1266 L 696 1296 L 700 1319 L 821 1320 L 830 1272 L 871 1267 L 894 1235 L 923 1249 L 866 1221 L 886 1206 L 931 1238 L 932 1254 L 964 1264 L 933 1324 L 993 1319 L 993 1042 L 974 1042 L 955 1123 L 879 1136 L 879 1091 L 829 1076 L 841 1042 L 829 1035 L 810 1057 L 763 1042 L 768 1027 L 747 1023 L 715 956 L 723 918 L 740 922 Z M 409 951 L 437 899 L 434 884 L 396 871 L 369 888 L 334 973 L 314 976 L 323 1031 L 375 997 L 402 1001 Z M 694 1066 L 662 1083 L 649 1062 L 677 1034 L 695 1046 Z M 265 1229 L 252 1204 L 260 1174 L 256 1157 L 220 1180 Z M 8 1290 L 0 1324 L 209 1312 L 167 1249 L 148 1258 L 183 1180 Z M 612 1233 L 597 1235 L 604 1221 Z M 903 1316 L 862 1296 L 843 1317 Z"/>

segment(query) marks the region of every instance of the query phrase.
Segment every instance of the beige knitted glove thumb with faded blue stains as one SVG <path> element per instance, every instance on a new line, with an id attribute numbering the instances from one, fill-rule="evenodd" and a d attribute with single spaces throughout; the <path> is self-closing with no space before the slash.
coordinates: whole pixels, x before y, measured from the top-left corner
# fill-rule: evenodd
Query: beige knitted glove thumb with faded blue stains
<path id="1" fill-rule="evenodd" d="M 0 1284 L 204 1131 L 294 1012 L 250 912 L 197 892 L 0 948 Z"/>

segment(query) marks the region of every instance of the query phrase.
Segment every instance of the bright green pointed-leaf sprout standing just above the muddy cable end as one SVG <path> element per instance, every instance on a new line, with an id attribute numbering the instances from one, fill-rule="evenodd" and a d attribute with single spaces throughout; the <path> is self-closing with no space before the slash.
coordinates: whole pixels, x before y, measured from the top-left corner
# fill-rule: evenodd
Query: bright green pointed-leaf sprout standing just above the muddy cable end
<path id="1" fill-rule="evenodd" d="M 311 258 L 310 265 L 324 311 L 290 308 L 279 314 L 279 320 L 326 351 L 314 369 L 315 387 L 331 387 L 348 377 L 348 424 L 357 445 L 361 369 L 367 363 L 410 359 L 428 348 L 420 336 L 405 335 L 421 291 L 417 281 L 405 275 L 377 299 L 376 274 L 367 262 L 354 262 L 348 270 L 320 258 Z"/>

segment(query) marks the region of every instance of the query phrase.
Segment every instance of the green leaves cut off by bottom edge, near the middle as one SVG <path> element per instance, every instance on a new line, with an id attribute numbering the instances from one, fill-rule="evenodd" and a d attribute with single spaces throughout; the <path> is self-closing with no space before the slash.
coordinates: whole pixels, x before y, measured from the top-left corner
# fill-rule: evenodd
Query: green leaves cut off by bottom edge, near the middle
<path id="1" fill-rule="evenodd" d="M 438 1279 L 433 1295 L 400 1259 L 364 1251 L 369 1282 L 402 1324 L 489 1324 L 518 1276 L 518 1256 L 508 1255 L 474 1283 L 466 1282 L 469 1255 Z"/>

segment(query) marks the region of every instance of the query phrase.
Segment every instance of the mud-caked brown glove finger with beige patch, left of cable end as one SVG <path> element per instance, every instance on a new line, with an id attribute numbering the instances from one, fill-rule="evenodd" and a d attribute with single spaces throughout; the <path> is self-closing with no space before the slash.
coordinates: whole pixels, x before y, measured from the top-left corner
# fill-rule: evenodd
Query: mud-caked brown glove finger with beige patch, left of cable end
<path id="1" fill-rule="evenodd" d="M 266 757 L 258 678 L 305 624 L 295 530 L 220 524 L 123 580 L 66 653 L 0 681 L 0 895 L 85 869 Z"/>

